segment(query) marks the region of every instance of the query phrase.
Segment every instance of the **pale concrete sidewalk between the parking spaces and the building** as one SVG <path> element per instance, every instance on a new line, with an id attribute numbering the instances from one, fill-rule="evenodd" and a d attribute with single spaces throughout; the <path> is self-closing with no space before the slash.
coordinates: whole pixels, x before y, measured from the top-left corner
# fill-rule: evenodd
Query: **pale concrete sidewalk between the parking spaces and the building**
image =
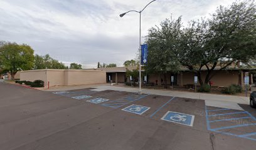
<path id="1" fill-rule="evenodd" d="M 116 86 L 95 86 L 93 88 L 105 89 L 105 90 L 110 89 L 115 91 L 127 91 L 132 93 L 138 92 L 137 88 L 124 88 L 124 87 L 116 87 Z M 157 90 L 157 89 L 142 89 L 142 93 L 156 94 L 156 95 L 162 95 L 162 96 L 175 96 L 180 98 L 202 99 L 206 101 L 225 101 L 225 102 L 238 103 L 238 104 L 250 104 L 249 97 L 243 97 L 243 96 L 188 93 L 188 92 L 165 91 L 165 90 Z"/>

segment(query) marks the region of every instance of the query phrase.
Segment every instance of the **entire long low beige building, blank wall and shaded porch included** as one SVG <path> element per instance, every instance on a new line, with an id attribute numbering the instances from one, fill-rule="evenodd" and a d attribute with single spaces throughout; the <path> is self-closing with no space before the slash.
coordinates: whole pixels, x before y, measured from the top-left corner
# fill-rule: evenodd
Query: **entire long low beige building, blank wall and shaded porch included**
<path id="1" fill-rule="evenodd" d="M 41 69 L 31 71 L 21 71 L 20 79 L 26 81 L 35 81 L 41 79 L 45 81 L 45 86 L 48 82 L 50 86 L 69 86 L 81 84 L 101 84 L 101 83 L 125 83 L 130 82 L 129 77 L 126 76 L 126 71 L 137 69 L 137 67 L 115 67 L 115 68 L 97 68 L 97 69 Z M 218 69 L 218 68 L 217 68 Z M 143 71 L 143 70 L 142 70 Z M 252 74 L 248 74 L 248 69 L 227 68 L 225 71 L 213 71 L 213 78 L 211 78 L 212 86 L 230 86 L 231 84 L 239 84 L 244 86 L 244 76 L 250 76 L 250 84 L 253 84 Z M 171 76 L 174 77 L 174 86 L 188 86 L 195 84 L 195 73 L 188 71 L 188 69 L 181 69 L 177 74 L 169 73 L 167 76 L 167 84 L 171 85 Z M 201 73 L 204 81 L 206 76 L 206 69 L 203 68 Z M 142 77 L 144 81 L 145 77 Z M 163 74 L 146 74 L 147 83 L 161 85 L 163 81 Z M 199 85 L 199 83 L 198 83 Z"/>

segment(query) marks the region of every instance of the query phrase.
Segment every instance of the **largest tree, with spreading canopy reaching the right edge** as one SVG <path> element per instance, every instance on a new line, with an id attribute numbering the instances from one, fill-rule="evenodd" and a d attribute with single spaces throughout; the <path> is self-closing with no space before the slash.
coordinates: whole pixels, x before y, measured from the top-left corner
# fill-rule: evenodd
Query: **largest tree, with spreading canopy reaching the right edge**
<path id="1" fill-rule="evenodd" d="M 214 70 L 224 70 L 256 56 L 256 5 L 250 1 L 220 6 L 207 21 L 192 21 L 181 36 L 179 61 L 208 84 Z M 201 71 L 206 68 L 205 80 Z"/>

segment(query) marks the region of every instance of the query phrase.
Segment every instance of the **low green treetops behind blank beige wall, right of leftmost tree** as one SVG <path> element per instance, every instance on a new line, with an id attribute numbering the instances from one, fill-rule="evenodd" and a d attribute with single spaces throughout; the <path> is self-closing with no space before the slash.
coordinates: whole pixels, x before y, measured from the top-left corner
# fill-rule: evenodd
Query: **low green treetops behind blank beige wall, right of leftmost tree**
<path id="1" fill-rule="evenodd" d="M 36 54 L 34 69 L 68 69 L 68 67 L 58 60 L 51 58 L 49 54 L 45 56 Z"/>

